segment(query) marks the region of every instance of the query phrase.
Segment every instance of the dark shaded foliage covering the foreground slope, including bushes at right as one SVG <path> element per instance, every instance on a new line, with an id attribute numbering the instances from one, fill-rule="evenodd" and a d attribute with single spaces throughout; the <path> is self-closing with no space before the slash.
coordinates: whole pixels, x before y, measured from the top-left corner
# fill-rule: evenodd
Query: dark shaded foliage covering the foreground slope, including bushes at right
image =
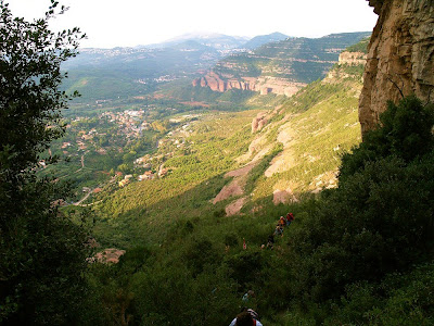
<path id="1" fill-rule="evenodd" d="M 193 211 L 173 216 L 159 231 L 158 246 L 131 248 L 118 265 L 93 267 L 99 311 L 108 308 L 101 321 L 227 325 L 247 304 L 267 325 L 430 325 L 432 108 L 406 98 L 391 103 L 381 123 L 344 155 L 339 188 L 319 199 L 228 218 L 201 208 L 200 197 L 190 197 L 206 186 L 186 193 L 204 212 L 200 217 Z M 406 141 L 396 141 L 401 128 L 405 139 L 419 139 L 413 134 L 423 139 L 418 152 L 408 154 L 401 147 Z M 385 140 L 378 135 L 400 149 L 383 151 Z M 269 158 L 264 160 L 266 164 Z M 260 171 L 260 165 L 252 170 L 248 189 Z M 276 238 L 273 250 L 260 249 L 288 210 L 296 221 Z M 242 302 L 248 289 L 256 297 Z"/>

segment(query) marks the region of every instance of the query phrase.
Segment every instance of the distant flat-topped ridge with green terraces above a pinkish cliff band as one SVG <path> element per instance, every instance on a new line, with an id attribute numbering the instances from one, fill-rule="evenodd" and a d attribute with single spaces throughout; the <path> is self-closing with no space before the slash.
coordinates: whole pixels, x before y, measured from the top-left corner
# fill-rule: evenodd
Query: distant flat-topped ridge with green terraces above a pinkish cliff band
<path id="1" fill-rule="evenodd" d="M 347 33 L 321 38 L 288 38 L 253 51 L 220 60 L 209 73 L 193 82 L 214 91 L 243 89 L 292 96 L 307 84 L 322 78 L 340 52 L 370 33 Z"/>

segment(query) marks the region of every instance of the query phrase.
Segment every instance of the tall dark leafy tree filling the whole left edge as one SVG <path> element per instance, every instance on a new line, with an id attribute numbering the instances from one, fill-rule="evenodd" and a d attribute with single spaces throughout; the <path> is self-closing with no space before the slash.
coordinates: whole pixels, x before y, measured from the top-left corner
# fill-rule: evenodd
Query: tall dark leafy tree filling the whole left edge
<path id="1" fill-rule="evenodd" d="M 65 10 L 51 0 L 27 22 L 0 0 L 0 324 L 73 323 L 86 289 L 86 234 L 59 211 L 67 189 L 36 175 L 74 97 L 60 90 L 61 63 L 84 35 L 49 29 Z"/>

